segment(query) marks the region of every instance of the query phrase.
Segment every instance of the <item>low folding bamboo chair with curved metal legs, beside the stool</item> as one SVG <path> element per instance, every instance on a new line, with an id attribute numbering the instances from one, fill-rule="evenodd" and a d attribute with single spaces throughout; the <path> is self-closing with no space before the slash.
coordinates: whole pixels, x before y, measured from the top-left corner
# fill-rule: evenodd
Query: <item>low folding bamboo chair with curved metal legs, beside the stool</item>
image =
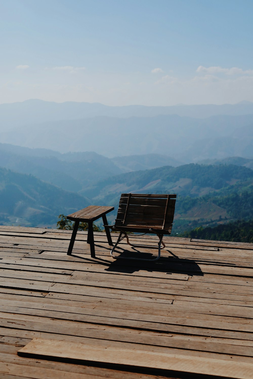
<path id="1" fill-rule="evenodd" d="M 165 247 L 162 241 L 163 235 L 171 233 L 175 203 L 176 195 L 121 194 L 115 224 L 109 226 L 105 225 L 105 228 L 108 227 L 119 232 L 118 240 L 111 250 L 111 256 L 115 259 L 152 260 L 153 262 L 158 260 L 160 258 L 161 244 L 163 245 L 162 249 Z M 159 238 L 158 247 L 134 245 L 129 242 L 127 232 L 154 233 Z M 122 237 L 122 235 L 124 236 Z M 113 255 L 113 251 L 118 243 L 125 237 L 130 246 L 158 249 L 158 256 L 150 259 L 116 257 Z"/>

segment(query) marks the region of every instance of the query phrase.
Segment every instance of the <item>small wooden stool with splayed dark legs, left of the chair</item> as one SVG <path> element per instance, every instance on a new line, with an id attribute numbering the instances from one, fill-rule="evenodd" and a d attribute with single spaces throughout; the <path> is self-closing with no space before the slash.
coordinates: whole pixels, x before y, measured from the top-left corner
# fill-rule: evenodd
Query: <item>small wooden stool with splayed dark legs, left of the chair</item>
<path id="1" fill-rule="evenodd" d="M 98 205 L 89 205 L 88 207 L 83 208 L 80 211 L 77 211 L 75 213 L 71 213 L 71 215 L 68 215 L 67 219 L 71 221 L 75 221 L 75 224 L 74 224 L 73 232 L 71 235 L 71 240 L 69 243 L 67 254 L 71 255 L 72 253 L 79 222 L 88 222 L 87 243 L 90 244 L 91 257 L 96 258 L 95 246 L 94 246 L 94 235 L 93 235 L 93 221 L 96 221 L 97 219 L 102 217 L 104 226 L 107 226 L 108 223 L 106 219 L 106 214 L 113 210 L 114 210 L 114 207 L 100 207 Z M 108 228 L 105 228 L 105 233 L 107 236 L 108 244 L 112 246 L 113 243 L 112 243 L 112 238 L 110 235 L 110 230 Z"/>

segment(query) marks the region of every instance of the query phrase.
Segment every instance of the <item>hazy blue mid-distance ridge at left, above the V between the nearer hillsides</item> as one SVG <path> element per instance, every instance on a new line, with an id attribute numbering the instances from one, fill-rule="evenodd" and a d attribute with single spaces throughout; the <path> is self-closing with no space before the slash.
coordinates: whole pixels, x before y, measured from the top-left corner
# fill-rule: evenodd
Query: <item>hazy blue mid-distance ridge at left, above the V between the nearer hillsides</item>
<path id="1" fill-rule="evenodd" d="M 59 153 L 0 143 L 0 166 L 78 192 L 98 180 L 137 169 L 181 162 L 165 155 L 147 154 L 106 158 L 94 152 Z"/>

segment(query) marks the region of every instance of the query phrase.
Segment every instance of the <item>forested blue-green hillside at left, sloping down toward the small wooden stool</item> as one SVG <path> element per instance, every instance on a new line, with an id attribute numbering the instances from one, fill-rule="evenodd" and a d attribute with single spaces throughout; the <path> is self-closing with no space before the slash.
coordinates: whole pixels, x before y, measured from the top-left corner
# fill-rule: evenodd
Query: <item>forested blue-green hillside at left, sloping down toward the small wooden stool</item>
<path id="1" fill-rule="evenodd" d="M 56 225 L 58 215 L 68 215 L 90 205 L 78 194 L 33 177 L 0 168 L 0 224 Z"/>

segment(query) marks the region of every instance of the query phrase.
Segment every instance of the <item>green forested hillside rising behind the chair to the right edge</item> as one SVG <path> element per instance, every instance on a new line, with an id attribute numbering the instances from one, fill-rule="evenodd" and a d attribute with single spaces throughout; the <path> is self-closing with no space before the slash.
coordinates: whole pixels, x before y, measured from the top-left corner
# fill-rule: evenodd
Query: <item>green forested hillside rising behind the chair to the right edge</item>
<path id="1" fill-rule="evenodd" d="M 250 219 L 253 170 L 234 165 L 187 164 L 129 172 L 102 180 L 81 193 L 95 204 L 113 205 L 113 222 L 121 193 L 176 193 L 172 235 L 198 226 Z"/>

